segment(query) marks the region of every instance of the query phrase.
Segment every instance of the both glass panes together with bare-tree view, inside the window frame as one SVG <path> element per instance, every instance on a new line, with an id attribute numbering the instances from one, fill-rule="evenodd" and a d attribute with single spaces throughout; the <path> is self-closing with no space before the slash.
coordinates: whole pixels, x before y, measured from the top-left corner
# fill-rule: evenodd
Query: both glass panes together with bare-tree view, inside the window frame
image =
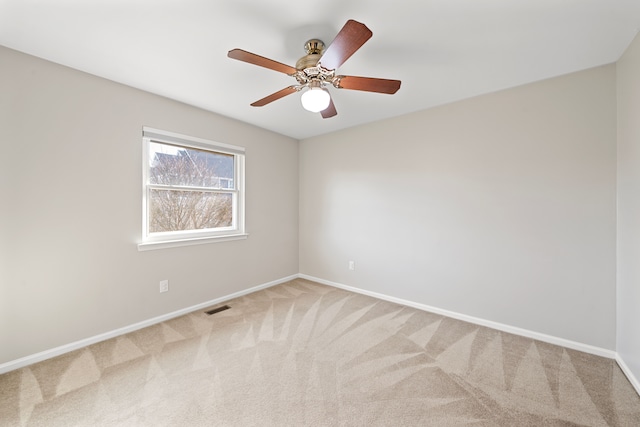
<path id="1" fill-rule="evenodd" d="M 234 156 L 150 143 L 149 232 L 231 227 Z"/>

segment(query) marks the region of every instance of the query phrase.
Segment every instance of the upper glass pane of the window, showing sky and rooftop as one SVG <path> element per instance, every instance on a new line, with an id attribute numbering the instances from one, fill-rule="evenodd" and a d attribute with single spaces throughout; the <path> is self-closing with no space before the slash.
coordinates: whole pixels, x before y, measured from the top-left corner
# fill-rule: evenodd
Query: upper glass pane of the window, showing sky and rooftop
<path id="1" fill-rule="evenodd" d="M 149 144 L 149 184 L 234 188 L 233 155 Z"/>

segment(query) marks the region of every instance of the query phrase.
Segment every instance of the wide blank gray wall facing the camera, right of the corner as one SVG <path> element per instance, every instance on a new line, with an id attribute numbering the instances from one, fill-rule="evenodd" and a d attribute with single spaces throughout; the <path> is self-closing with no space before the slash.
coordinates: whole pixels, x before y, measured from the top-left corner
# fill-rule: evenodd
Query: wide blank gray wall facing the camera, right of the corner
<path id="1" fill-rule="evenodd" d="M 615 73 L 301 141 L 300 272 L 614 350 Z"/>

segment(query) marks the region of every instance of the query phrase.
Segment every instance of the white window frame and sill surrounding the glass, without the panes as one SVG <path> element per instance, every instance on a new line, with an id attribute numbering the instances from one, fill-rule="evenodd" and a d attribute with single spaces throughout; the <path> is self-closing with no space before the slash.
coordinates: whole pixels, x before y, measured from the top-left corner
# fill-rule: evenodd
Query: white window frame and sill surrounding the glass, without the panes
<path id="1" fill-rule="evenodd" d="M 176 145 L 233 155 L 235 188 L 225 190 L 234 194 L 233 221 L 230 227 L 215 230 L 187 230 L 149 233 L 149 204 L 148 194 L 153 185 L 149 184 L 149 155 L 151 142 Z M 162 249 L 176 246 L 197 245 L 203 243 L 222 242 L 228 240 L 246 239 L 244 212 L 244 157 L 245 149 L 235 145 L 209 141 L 193 136 L 181 135 L 174 132 L 142 128 L 142 241 L 138 243 L 138 250 Z"/>

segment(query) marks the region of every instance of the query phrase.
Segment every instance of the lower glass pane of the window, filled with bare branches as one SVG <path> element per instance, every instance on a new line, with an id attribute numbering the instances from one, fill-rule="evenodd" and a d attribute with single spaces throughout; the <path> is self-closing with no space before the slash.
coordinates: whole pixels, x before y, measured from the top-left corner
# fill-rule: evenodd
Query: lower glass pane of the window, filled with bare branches
<path id="1" fill-rule="evenodd" d="M 149 191 L 149 232 L 233 225 L 233 195 L 205 191 Z"/>

